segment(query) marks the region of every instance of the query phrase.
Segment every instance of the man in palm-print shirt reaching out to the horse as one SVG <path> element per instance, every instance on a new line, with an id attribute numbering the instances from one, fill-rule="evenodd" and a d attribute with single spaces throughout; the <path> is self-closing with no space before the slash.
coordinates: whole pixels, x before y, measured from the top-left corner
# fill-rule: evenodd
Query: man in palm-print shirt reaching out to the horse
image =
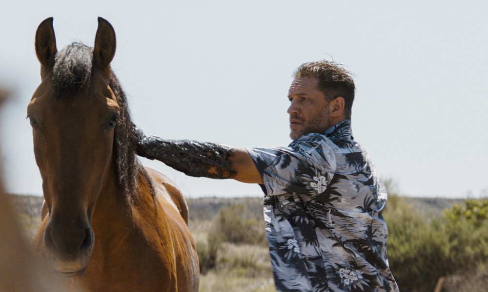
<path id="1" fill-rule="evenodd" d="M 337 64 L 305 63 L 288 93 L 288 147 L 163 140 L 138 130 L 138 154 L 190 176 L 259 183 L 278 291 L 398 291 L 386 255 L 386 188 L 350 128 L 354 91 Z"/>

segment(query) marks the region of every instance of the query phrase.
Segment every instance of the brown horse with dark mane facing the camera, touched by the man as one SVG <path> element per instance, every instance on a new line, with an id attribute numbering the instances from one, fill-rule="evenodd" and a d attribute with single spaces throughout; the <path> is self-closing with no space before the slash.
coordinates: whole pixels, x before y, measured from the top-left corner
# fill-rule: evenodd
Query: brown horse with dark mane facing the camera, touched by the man
<path id="1" fill-rule="evenodd" d="M 142 167 L 121 85 L 110 69 L 115 32 L 99 18 L 94 48 L 58 52 L 53 18 L 36 33 L 41 85 L 27 112 L 45 217 L 36 250 L 88 291 L 198 291 L 186 201 Z"/>

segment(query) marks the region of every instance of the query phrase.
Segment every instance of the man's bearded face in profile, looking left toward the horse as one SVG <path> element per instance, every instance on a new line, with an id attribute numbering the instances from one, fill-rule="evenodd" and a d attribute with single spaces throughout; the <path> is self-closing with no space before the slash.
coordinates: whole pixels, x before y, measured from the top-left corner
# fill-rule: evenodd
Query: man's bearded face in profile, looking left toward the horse
<path id="1" fill-rule="evenodd" d="M 317 88 L 317 77 L 297 77 L 288 91 L 290 107 L 290 138 L 295 140 L 308 133 L 322 133 L 330 128 L 329 102 Z"/>

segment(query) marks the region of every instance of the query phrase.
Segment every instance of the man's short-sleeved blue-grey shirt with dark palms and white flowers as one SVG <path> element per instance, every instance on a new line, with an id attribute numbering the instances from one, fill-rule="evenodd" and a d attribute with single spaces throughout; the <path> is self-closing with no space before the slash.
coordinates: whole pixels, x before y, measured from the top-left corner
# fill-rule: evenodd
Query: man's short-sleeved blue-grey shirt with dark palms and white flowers
<path id="1" fill-rule="evenodd" d="M 386 255 L 386 188 L 350 120 L 288 147 L 247 151 L 264 181 L 278 291 L 398 291 Z"/>

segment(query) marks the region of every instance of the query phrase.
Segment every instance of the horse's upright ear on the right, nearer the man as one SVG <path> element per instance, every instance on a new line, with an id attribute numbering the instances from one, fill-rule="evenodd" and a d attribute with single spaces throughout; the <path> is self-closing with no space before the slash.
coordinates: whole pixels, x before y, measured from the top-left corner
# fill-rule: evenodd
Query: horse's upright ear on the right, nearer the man
<path id="1" fill-rule="evenodd" d="M 115 30 L 105 19 L 98 18 L 95 47 L 93 48 L 93 61 L 100 68 L 106 68 L 115 55 Z"/>

